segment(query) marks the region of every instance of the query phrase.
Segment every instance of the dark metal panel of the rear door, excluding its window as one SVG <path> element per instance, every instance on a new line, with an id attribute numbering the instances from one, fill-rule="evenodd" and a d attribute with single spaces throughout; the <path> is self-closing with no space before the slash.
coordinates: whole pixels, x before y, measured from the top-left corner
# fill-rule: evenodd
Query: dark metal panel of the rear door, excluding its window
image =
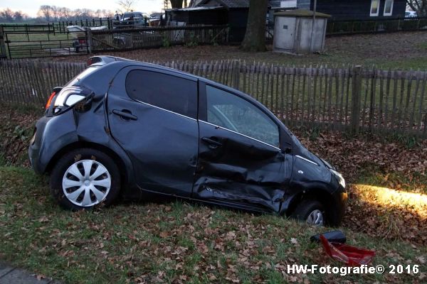
<path id="1" fill-rule="evenodd" d="M 135 67 L 121 70 L 107 97 L 112 137 L 132 160 L 137 186 L 165 195 L 189 197 L 196 171 L 199 126 L 196 119 L 128 97 L 125 78 Z M 126 120 L 117 111 L 128 111 Z"/>

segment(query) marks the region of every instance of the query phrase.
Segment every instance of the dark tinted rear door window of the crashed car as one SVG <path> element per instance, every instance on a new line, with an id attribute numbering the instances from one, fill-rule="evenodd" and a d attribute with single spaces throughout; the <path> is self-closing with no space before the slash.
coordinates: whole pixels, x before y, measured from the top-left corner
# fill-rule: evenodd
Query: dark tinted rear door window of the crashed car
<path id="1" fill-rule="evenodd" d="M 197 117 L 197 83 L 174 75 L 132 70 L 126 77 L 126 92 L 132 99 L 177 114 Z"/>

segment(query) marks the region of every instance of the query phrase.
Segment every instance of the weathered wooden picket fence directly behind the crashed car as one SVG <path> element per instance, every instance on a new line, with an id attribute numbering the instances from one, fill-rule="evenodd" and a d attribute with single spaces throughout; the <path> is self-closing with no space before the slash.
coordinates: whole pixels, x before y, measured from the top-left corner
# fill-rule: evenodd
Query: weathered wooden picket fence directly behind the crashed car
<path id="1" fill-rule="evenodd" d="M 290 127 L 427 137 L 427 72 L 238 60 L 159 64 L 251 94 Z M 0 102 L 42 106 L 53 87 L 84 69 L 81 63 L 1 60 Z"/>

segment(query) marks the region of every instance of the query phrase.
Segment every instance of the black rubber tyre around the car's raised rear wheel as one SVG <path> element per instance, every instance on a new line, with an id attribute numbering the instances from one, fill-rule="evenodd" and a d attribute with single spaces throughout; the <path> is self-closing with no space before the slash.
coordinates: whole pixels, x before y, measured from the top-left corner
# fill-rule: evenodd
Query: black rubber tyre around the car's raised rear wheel
<path id="1" fill-rule="evenodd" d="M 109 174 L 107 178 L 110 178 L 110 187 L 108 192 L 106 192 L 107 187 L 104 188 L 105 192 L 103 193 L 106 194 L 105 198 L 102 200 L 102 202 L 94 204 L 93 206 L 79 206 L 78 204 L 71 202 L 68 199 L 68 197 L 65 197 L 65 192 L 63 190 L 63 178 L 65 175 L 65 172 L 67 172 L 68 168 L 70 168 L 71 165 L 78 163 L 78 161 L 83 161 L 83 160 L 93 160 L 95 162 L 91 162 L 91 163 L 94 163 L 94 164 L 96 163 L 97 166 L 99 166 L 99 164 L 102 165 L 104 168 L 106 168 L 107 174 Z M 93 171 L 94 168 L 95 167 L 93 166 L 93 168 L 91 168 L 91 171 Z M 82 170 L 80 170 L 80 174 L 81 173 L 82 173 Z M 107 175 L 107 174 L 103 174 L 103 175 Z M 71 177 L 73 177 L 73 175 L 71 175 Z M 75 179 L 75 180 L 78 180 L 78 179 Z M 73 150 L 70 153 L 63 155 L 58 159 L 58 162 L 56 163 L 56 165 L 54 166 L 51 172 L 50 184 L 51 184 L 51 194 L 53 198 L 56 200 L 56 202 L 58 202 L 58 204 L 60 204 L 60 206 L 64 207 L 65 209 L 71 209 L 73 211 L 77 211 L 80 209 L 92 209 L 93 207 L 99 206 L 100 204 L 108 206 L 115 201 L 115 199 L 117 198 L 117 195 L 120 192 L 120 171 L 109 155 L 106 155 L 105 153 L 102 153 L 101 151 L 97 151 L 92 148 L 80 148 L 80 149 Z M 97 189 L 100 188 L 102 190 L 103 187 L 96 187 L 96 188 Z M 90 198 L 91 200 L 96 200 L 95 194 L 93 192 L 94 191 L 91 192 L 92 195 L 90 195 Z"/>

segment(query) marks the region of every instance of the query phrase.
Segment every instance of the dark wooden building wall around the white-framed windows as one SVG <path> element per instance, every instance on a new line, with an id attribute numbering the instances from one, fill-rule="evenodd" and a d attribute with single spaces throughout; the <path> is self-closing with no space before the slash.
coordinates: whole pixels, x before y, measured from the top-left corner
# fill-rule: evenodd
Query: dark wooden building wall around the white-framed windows
<path id="1" fill-rule="evenodd" d="M 379 16 L 369 16 L 371 12 L 371 0 L 317 0 L 317 11 L 330 14 L 332 20 L 404 18 L 406 0 L 394 0 L 393 14 L 391 16 L 384 16 L 385 3 L 385 0 L 380 0 Z M 314 9 L 314 0 L 312 0 L 310 9 Z"/>

